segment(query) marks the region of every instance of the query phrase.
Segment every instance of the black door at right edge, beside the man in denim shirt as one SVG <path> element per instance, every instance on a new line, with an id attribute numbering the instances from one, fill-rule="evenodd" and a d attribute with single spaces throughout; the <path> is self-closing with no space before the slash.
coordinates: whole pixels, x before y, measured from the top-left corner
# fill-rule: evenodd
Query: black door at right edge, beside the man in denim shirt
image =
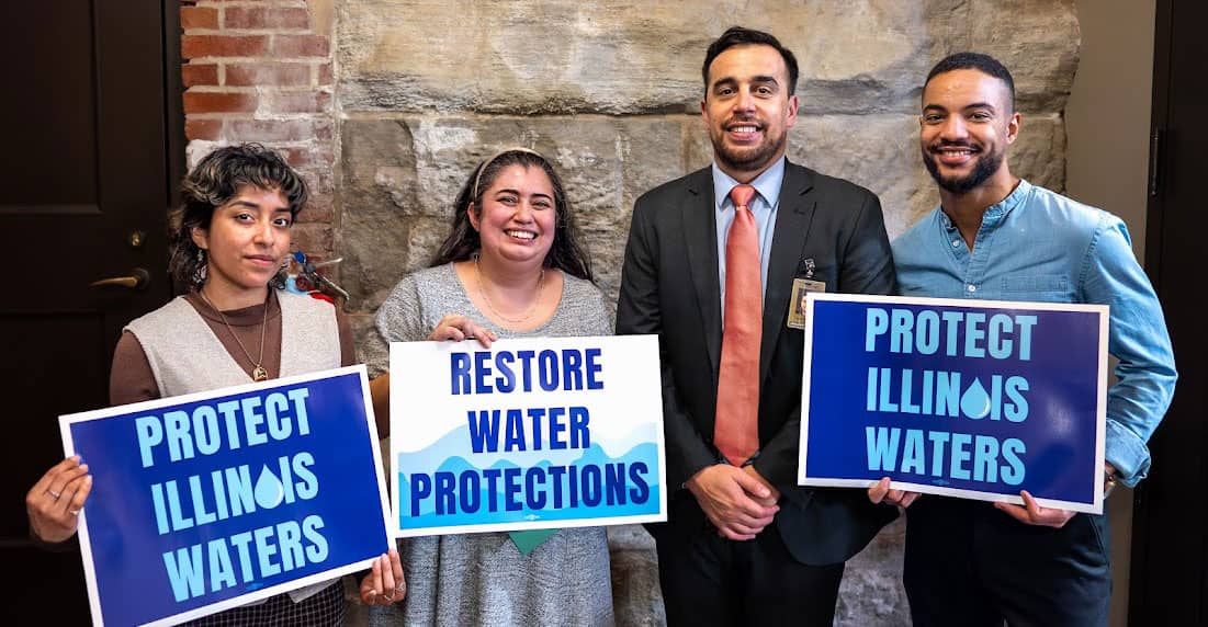
<path id="1" fill-rule="evenodd" d="M 1174 340 L 1179 385 L 1137 491 L 1129 623 L 1208 625 L 1208 333 L 1204 156 L 1208 4 L 1158 0 L 1145 269 Z"/>

